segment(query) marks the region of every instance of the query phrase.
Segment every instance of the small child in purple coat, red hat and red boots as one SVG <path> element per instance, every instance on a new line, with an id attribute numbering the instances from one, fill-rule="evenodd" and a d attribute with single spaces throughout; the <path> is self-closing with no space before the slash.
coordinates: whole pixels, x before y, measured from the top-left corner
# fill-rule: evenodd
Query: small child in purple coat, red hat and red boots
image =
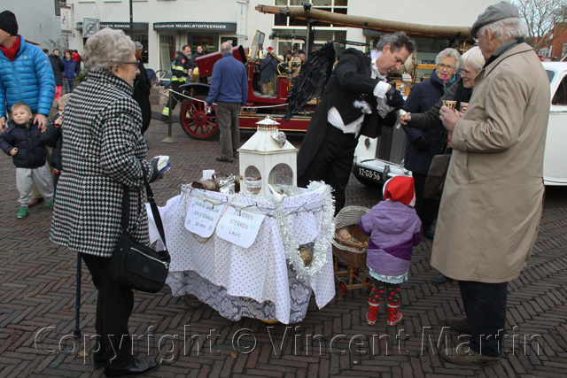
<path id="1" fill-rule="evenodd" d="M 382 294 L 388 299 L 389 326 L 402 318 L 400 284 L 408 280 L 409 262 L 415 245 L 421 243 L 422 222 L 412 207 L 416 203 L 416 189 L 412 177 L 396 176 L 384 183 L 384 201 L 380 201 L 363 215 L 359 226 L 370 236 L 368 257 L 372 288 L 366 320 L 376 323 Z"/>

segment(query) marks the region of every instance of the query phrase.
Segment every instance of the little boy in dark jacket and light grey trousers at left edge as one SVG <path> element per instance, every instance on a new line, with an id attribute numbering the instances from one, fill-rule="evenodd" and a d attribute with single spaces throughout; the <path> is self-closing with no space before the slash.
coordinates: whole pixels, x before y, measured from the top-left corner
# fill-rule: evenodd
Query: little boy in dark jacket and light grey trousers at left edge
<path id="1" fill-rule="evenodd" d="M 18 201 L 21 204 L 18 218 L 25 218 L 29 213 L 27 204 L 32 197 L 32 182 L 45 198 L 45 206 L 53 208 L 53 190 L 41 141 L 43 130 L 32 121 L 29 106 L 16 103 L 12 105 L 12 120 L 8 122 L 6 131 L 0 135 L 0 149 L 12 156 L 16 166 L 16 186 L 19 191 Z"/>

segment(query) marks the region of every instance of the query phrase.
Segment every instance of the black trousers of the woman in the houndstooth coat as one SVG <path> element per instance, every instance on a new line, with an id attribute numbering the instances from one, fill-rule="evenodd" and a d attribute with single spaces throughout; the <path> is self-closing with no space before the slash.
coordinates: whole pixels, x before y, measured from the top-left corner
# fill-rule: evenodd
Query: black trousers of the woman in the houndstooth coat
<path id="1" fill-rule="evenodd" d="M 130 353 L 132 342 L 128 332 L 128 319 L 134 307 L 134 292 L 113 280 L 110 275 L 110 258 L 86 253 L 82 253 L 81 258 L 89 268 L 92 282 L 98 290 L 94 360 L 113 367 L 127 366 L 134 360 Z"/>

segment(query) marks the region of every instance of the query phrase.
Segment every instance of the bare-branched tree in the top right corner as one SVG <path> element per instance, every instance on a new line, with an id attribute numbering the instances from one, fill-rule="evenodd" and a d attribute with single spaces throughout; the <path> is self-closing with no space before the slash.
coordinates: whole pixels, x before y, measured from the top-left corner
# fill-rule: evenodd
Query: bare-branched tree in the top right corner
<path id="1" fill-rule="evenodd" d="M 567 25 L 567 1 L 565 0 L 514 0 L 520 17 L 528 27 L 528 35 L 533 39 L 534 49 L 548 45 L 550 40 L 545 38 L 553 33 L 553 38 L 562 35 Z M 551 41 L 552 42 L 552 41 Z"/>

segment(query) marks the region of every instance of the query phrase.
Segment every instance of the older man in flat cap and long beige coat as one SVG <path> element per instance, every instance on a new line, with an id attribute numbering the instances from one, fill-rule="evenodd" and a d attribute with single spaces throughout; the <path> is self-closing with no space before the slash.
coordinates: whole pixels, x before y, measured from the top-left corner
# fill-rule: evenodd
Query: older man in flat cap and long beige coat
<path id="1" fill-rule="evenodd" d="M 469 348 L 440 352 L 454 364 L 500 362 L 508 282 L 520 275 L 538 235 L 550 94 L 526 32 L 515 5 L 501 2 L 480 14 L 470 33 L 486 63 L 467 112 L 440 111 L 453 130 L 453 155 L 431 266 L 459 280 L 467 317 L 447 324 L 470 335 Z"/>

